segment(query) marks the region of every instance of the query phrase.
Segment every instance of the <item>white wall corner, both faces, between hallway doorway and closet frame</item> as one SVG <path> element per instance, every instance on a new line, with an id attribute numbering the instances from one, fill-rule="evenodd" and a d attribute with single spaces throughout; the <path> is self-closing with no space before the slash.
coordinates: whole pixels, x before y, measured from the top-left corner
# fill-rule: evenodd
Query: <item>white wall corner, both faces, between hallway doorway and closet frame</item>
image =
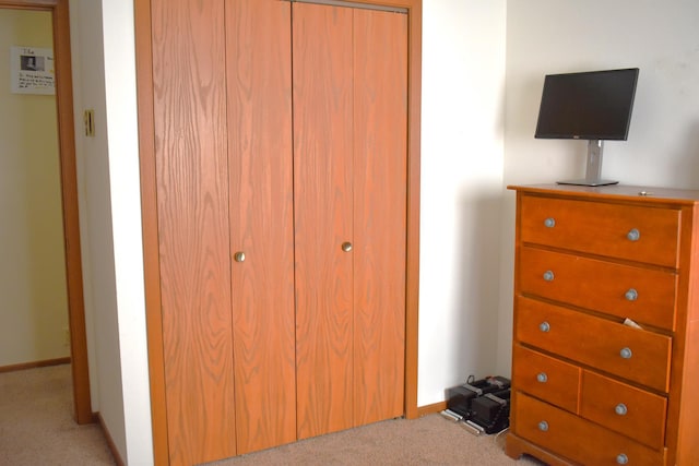
<path id="1" fill-rule="evenodd" d="M 76 158 L 93 409 L 128 464 L 153 462 L 133 5 L 71 0 Z M 104 22 L 103 22 L 104 17 Z M 95 136 L 82 113 L 95 110 Z"/>

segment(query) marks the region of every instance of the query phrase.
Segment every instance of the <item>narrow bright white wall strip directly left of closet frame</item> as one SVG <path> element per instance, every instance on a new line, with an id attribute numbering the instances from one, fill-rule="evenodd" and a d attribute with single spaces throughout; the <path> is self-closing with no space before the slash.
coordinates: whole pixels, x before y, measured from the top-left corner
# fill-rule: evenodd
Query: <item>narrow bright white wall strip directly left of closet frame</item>
<path id="1" fill-rule="evenodd" d="M 103 0 L 119 359 L 128 464 L 153 462 L 141 228 L 133 2 Z"/>

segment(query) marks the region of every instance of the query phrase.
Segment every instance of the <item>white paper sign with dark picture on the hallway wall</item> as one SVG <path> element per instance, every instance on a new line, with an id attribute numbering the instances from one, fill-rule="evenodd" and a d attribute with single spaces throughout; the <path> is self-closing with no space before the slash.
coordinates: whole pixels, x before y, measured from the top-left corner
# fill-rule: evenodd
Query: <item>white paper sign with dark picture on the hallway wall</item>
<path id="1" fill-rule="evenodd" d="M 55 94 L 54 50 L 11 47 L 11 91 L 14 94 Z"/>

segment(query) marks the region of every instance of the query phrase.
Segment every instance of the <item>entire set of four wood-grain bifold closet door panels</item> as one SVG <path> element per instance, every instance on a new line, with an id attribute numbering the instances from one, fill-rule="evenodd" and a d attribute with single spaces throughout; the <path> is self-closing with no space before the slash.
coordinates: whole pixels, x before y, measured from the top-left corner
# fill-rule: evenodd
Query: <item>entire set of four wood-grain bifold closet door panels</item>
<path id="1" fill-rule="evenodd" d="M 404 411 L 407 16 L 151 0 L 170 464 Z"/>

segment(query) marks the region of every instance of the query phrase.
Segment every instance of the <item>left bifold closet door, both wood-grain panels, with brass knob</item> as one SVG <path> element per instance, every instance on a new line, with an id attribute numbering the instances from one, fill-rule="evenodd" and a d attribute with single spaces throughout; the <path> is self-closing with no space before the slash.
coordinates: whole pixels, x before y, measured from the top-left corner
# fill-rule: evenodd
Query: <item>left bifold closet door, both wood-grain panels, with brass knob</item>
<path id="1" fill-rule="evenodd" d="M 199 464 L 296 439 L 291 4 L 152 5 L 169 459 Z"/>

